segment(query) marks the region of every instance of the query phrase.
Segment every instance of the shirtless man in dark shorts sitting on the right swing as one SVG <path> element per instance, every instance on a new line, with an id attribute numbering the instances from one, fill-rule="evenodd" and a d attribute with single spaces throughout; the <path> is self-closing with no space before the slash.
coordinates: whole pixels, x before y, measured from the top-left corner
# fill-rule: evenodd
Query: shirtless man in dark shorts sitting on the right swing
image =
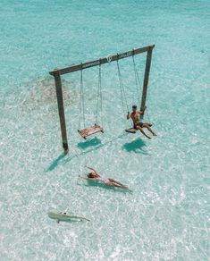
<path id="1" fill-rule="evenodd" d="M 144 111 L 146 110 L 146 107 Z M 145 131 L 143 131 L 143 128 L 147 128 L 148 131 L 150 131 L 154 136 L 156 136 L 155 132 L 150 128 L 152 124 L 147 123 L 147 122 L 140 122 L 140 115 L 144 114 L 144 111 L 138 111 L 137 110 L 137 105 L 132 105 L 132 113 L 128 112 L 127 114 L 127 120 L 130 118 L 133 121 L 133 129 L 139 130 L 142 134 L 144 134 L 148 139 L 151 139 Z"/>

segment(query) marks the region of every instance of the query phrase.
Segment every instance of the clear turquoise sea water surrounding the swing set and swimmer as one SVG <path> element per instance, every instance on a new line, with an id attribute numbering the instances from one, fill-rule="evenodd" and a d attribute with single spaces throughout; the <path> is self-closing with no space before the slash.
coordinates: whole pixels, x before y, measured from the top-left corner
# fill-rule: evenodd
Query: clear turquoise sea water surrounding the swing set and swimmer
<path id="1" fill-rule="evenodd" d="M 0 9 L 1 260 L 209 260 L 210 2 L 3 0 Z M 86 142 L 80 73 L 63 77 L 63 156 L 48 72 L 153 43 L 147 108 L 158 137 L 124 133 L 116 64 L 105 64 L 105 133 Z M 136 57 L 141 79 L 144 62 Z M 132 105 L 131 59 L 121 66 Z M 84 78 L 88 125 L 97 68 Z M 133 193 L 80 181 L 85 164 Z M 47 217 L 66 208 L 91 222 Z"/>

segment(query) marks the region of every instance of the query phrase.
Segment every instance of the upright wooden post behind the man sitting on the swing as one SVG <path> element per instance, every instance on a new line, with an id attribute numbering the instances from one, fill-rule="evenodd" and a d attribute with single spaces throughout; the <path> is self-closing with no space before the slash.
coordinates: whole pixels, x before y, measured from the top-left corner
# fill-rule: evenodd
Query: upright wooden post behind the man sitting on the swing
<path id="1" fill-rule="evenodd" d="M 147 50 L 145 76 L 144 76 L 143 91 L 142 91 L 141 105 L 140 105 L 140 110 L 143 112 L 143 115 L 144 115 L 144 109 L 145 109 L 146 99 L 147 99 L 147 86 L 148 86 L 150 65 L 151 65 L 151 60 L 152 60 L 152 52 L 153 52 L 153 46 L 149 47 L 149 49 Z M 143 118 L 143 115 L 142 115 L 142 118 Z"/>

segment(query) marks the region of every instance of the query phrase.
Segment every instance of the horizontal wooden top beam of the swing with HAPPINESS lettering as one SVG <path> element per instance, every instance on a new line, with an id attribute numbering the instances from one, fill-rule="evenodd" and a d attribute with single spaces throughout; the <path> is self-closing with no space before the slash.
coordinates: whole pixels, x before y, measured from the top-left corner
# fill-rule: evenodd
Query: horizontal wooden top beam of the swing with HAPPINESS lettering
<path id="1" fill-rule="evenodd" d="M 100 64 L 111 63 L 113 61 L 120 60 L 120 59 L 129 57 L 129 56 L 132 56 L 132 55 L 139 55 L 139 54 L 147 52 L 148 50 L 153 49 L 154 47 L 155 47 L 155 45 L 145 46 L 145 47 L 141 47 L 141 48 L 138 48 L 138 49 L 133 49 L 131 51 L 128 51 L 128 52 L 125 52 L 125 53 L 122 53 L 122 54 L 108 55 L 105 58 L 101 58 L 101 59 L 91 61 L 91 62 L 88 62 L 88 63 L 80 63 L 80 64 L 76 64 L 76 65 L 71 65 L 70 67 L 66 67 L 66 68 L 63 68 L 63 69 L 55 69 L 54 71 L 49 72 L 49 73 L 51 75 L 55 75 L 57 73 L 62 75 L 62 74 L 65 74 L 65 73 L 76 72 L 76 71 L 88 69 L 90 67 L 97 66 L 97 65 L 100 65 Z"/>

